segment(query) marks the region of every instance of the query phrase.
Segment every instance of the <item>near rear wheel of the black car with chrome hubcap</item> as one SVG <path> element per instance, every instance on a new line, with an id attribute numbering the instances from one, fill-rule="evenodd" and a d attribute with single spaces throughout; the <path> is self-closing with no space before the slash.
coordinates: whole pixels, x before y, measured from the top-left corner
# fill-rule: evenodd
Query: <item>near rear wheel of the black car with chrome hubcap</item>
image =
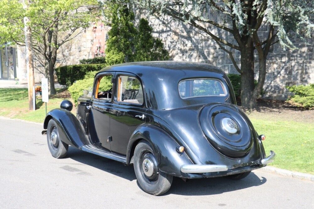
<path id="1" fill-rule="evenodd" d="M 161 172 L 149 143 L 142 140 L 134 150 L 134 171 L 138 184 L 152 195 L 162 195 L 170 189 L 173 176 Z"/>

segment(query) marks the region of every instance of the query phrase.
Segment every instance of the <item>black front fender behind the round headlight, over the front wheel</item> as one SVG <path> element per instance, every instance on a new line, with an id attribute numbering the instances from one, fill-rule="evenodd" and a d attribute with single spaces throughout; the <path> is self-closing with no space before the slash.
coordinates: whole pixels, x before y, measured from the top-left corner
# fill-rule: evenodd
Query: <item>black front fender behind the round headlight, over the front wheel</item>
<path id="1" fill-rule="evenodd" d="M 47 129 L 51 119 L 56 121 L 59 136 L 64 143 L 77 148 L 90 144 L 84 127 L 70 111 L 57 108 L 48 112 L 44 121 L 44 129 Z"/>

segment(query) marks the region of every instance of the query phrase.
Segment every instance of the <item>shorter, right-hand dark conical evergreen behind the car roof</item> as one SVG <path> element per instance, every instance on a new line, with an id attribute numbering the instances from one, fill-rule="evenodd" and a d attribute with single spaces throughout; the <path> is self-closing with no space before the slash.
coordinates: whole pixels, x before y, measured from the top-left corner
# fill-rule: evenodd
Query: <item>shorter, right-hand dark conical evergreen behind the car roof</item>
<path id="1" fill-rule="evenodd" d="M 164 44 L 152 35 L 153 28 L 146 19 L 140 19 L 138 34 L 135 43 L 135 62 L 168 60 L 169 53 L 164 49 Z"/>

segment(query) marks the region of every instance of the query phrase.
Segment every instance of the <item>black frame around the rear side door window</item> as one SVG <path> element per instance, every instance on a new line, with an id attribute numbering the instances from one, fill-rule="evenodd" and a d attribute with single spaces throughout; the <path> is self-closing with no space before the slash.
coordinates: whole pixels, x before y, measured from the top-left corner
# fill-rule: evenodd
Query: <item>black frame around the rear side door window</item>
<path id="1" fill-rule="evenodd" d="M 137 103 L 132 103 L 132 102 L 124 102 L 124 101 L 118 101 L 118 81 L 120 76 L 129 76 L 129 77 L 134 77 L 138 79 L 139 83 L 142 86 L 142 91 L 143 91 L 143 103 L 142 104 L 137 104 Z M 145 97 L 145 88 L 142 80 L 135 74 L 133 73 L 127 73 L 127 72 L 116 72 L 115 75 L 115 85 L 114 85 L 114 92 L 113 92 L 113 103 L 115 104 L 122 104 L 122 105 L 133 105 L 136 107 L 146 107 L 146 97 Z"/>

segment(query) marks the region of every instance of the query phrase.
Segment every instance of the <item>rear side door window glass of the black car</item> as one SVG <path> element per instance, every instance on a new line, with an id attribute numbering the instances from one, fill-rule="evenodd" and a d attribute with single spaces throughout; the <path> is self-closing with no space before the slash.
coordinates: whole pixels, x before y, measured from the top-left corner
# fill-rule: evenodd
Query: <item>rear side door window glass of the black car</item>
<path id="1" fill-rule="evenodd" d="M 116 90 L 117 101 L 143 104 L 143 88 L 137 78 L 119 76 Z"/>

